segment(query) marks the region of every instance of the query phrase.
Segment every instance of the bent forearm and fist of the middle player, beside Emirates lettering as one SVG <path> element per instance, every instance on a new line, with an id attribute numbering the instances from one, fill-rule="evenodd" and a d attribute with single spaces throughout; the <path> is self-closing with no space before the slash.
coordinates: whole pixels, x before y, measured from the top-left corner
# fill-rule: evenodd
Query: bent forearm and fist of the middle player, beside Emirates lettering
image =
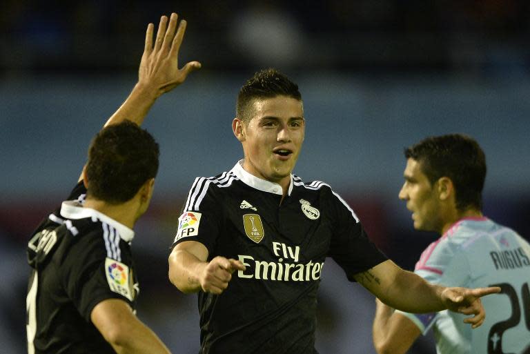
<path id="1" fill-rule="evenodd" d="M 200 242 L 185 241 L 177 244 L 171 252 L 169 279 L 183 293 L 220 294 L 232 279 L 236 270 L 244 271 L 245 266 L 235 259 L 215 257 L 210 262 L 208 249 Z"/>

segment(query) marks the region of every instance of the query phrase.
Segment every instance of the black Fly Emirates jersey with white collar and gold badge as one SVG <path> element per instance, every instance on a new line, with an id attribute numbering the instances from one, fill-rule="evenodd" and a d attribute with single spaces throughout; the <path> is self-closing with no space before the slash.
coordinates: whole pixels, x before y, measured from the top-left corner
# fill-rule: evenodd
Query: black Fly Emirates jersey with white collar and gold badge
<path id="1" fill-rule="evenodd" d="M 200 353 L 316 353 L 317 290 L 326 257 L 353 275 L 386 260 L 331 188 L 291 177 L 282 187 L 247 173 L 195 179 L 173 246 L 196 241 L 239 259 L 221 295 L 199 293 Z"/>

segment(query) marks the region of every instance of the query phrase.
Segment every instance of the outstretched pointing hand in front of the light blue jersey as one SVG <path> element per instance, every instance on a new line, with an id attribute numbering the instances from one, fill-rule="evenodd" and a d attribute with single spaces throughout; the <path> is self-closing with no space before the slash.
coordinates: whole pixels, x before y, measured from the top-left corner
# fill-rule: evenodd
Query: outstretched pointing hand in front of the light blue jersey
<path id="1" fill-rule="evenodd" d="M 486 318 L 486 312 L 484 307 L 482 307 L 480 297 L 499 292 L 500 288 L 498 286 L 475 289 L 445 288 L 442 291 L 442 302 L 451 311 L 472 315 L 472 317 L 464 319 L 464 322 L 471 324 L 472 328 L 477 328 Z"/>

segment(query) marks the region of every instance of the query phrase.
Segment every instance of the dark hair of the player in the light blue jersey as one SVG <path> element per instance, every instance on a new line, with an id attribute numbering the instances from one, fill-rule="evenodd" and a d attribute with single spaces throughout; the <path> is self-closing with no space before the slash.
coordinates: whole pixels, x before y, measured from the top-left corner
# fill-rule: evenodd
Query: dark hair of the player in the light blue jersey
<path id="1" fill-rule="evenodd" d="M 406 148 L 405 157 L 420 162 L 431 184 L 440 177 L 449 177 L 455 186 L 458 210 L 482 210 L 486 157 L 475 139 L 462 134 L 427 137 Z"/>

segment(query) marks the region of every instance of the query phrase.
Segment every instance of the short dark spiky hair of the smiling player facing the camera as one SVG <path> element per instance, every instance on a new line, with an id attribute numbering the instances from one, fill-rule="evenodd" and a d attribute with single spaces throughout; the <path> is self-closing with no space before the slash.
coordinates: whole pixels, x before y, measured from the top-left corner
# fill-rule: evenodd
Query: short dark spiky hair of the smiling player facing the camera
<path id="1" fill-rule="evenodd" d="M 254 99 L 287 96 L 302 101 L 298 85 L 276 69 L 268 68 L 256 72 L 239 90 L 235 108 L 236 116 L 242 121 L 251 120 L 248 109 Z"/>

